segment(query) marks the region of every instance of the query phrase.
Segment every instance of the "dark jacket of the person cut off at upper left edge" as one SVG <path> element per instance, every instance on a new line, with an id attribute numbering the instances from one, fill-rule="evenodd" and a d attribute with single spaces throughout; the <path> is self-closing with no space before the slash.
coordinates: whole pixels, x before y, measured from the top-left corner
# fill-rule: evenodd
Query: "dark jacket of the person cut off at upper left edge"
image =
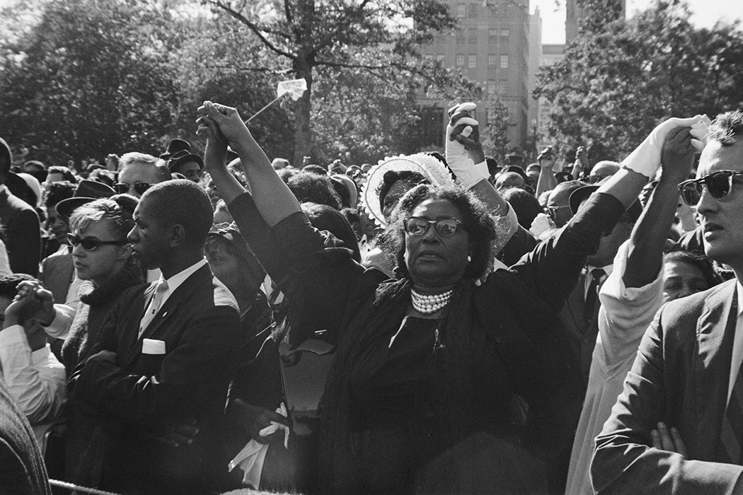
<path id="1" fill-rule="evenodd" d="M 2 223 L 7 257 L 13 273 L 39 275 L 42 236 L 39 215 L 24 200 L 13 196 L 0 185 L 0 223 Z"/>

